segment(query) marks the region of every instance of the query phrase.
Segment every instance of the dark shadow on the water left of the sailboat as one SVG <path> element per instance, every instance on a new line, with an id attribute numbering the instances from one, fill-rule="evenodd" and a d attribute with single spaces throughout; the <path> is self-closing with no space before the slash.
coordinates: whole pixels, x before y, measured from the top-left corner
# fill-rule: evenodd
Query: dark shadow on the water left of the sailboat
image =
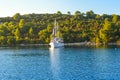
<path id="1" fill-rule="evenodd" d="M 1 47 L 1 50 L 6 50 L 7 56 L 16 57 L 36 57 L 48 56 L 48 47 L 30 46 L 30 47 Z M 12 52 L 12 53 L 11 53 Z"/>

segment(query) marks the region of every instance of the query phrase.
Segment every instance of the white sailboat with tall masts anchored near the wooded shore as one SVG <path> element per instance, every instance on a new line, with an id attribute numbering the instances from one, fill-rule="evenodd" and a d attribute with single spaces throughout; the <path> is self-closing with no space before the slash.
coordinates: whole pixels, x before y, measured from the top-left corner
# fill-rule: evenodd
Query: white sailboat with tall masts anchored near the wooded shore
<path id="1" fill-rule="evenodd" d="M 64 46 L 63 39 L 60 38 L 60 36 L 59 36 L 59 26 L 58 26 L 58 23 L 56 22 L 56 20 L 54 22 L 52 39 L 51 39 L 49 45 L 51 48 L 58 48 L 58 47 Z"/>

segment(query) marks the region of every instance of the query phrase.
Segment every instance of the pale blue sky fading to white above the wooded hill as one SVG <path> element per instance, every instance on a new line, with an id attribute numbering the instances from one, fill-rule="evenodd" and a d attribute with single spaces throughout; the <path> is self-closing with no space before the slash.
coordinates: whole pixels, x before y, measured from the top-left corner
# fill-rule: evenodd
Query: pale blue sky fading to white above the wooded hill
<path id="1" fill-rule="evenodd" d="M 0 17 L 13 16 L 15 13 L 56 13 L 61 11 L 72 14 L 75 11 L 86 13 L 92 10 L 96 14 L 120 15 L 120 0 L 1 0 Z"/>

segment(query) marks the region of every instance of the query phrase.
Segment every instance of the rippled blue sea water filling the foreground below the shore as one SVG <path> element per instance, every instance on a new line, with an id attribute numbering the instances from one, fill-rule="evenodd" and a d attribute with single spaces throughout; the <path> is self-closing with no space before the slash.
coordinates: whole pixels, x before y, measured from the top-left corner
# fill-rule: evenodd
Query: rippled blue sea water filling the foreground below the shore
<path id="1" fill-rule="evenodd" d="M 0 47 L 0 80 L 119 79 L 119 47 Z"/>

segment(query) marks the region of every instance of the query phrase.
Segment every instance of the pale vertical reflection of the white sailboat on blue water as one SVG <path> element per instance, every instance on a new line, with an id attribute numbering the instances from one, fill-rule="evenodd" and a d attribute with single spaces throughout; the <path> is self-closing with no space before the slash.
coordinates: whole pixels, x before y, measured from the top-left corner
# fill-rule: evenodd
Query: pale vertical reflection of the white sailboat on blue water
<path id="1" fill-rule="evenodd" d="M 62 48 L 49 48 L 50 51 L 50 61 L 51 61 L 51 70 L 53 73 L 53 78 L 55 80 L 60 79 L 60 51 Z"/>

